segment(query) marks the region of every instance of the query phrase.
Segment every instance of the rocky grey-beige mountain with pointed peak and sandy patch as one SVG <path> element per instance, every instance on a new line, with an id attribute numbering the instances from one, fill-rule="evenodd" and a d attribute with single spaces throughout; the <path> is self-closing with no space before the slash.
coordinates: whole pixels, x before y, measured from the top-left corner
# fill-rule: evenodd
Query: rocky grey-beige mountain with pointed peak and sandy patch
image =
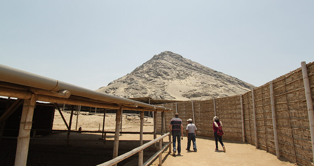
<path id="1" fill-rule="evenodd" d="M 96 91 L 125 98 L 150 96 L 163 100 L 206 100 L 243 94 L 253 87 L 165 51 Z"/>

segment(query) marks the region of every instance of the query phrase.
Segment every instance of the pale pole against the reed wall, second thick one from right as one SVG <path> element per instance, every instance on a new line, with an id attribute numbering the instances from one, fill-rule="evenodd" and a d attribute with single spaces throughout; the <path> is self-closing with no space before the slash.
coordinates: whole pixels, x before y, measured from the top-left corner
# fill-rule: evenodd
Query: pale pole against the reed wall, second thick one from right
<path id="1" fill-rule="evenodd" d="M 278 143 L 278 135 L 277 135 L 277 122 L 276 122 L 275 97 L 274 97 L 273 81 L 270 81 L 269 85 L 270 85 L 270 102 L 271 102 L 271 105 L 272 105 L 272 118 L 273 118 L 273 129 L 274 129 L 276 156 L 277 156 L 277 158 L 279 158 L 280 157 L 280 151 L 279 151 L 279 143 Z"/>

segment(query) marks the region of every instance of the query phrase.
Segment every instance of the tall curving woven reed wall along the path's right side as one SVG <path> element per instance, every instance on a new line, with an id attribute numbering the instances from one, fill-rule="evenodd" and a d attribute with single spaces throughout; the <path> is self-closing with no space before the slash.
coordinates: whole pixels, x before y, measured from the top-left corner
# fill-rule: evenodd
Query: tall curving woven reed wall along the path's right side
<path id="1" fill-rule="evenodd" d="M 314 62 L 307 64 L 307 72 L 313 100 Z M 312 165 L 311 133 L 301 68 L 273 80 L 273 91 L 280 155 L 293 163 Z M 270 84 L 266 83 L 255 88 L 253 93 L 258 147 L 276 154 Z M 245 141 L 255 146 L 252 91 L 243 94 L 242 100 Z M 224 139 L 242 141 L 240 95 L 218 98 L 215 99 L 215 102 L 211 99 L 164 104 L 165 107 L 174 110 L 173 112 L 165 112 L 166 132 L 169 132 L 170 120 L 177 110 L 183 122 L 183 133 L 185 133 L 186 120 L 193 119 L 194 110 L 194 123 L 198 129 L 197 135 L 213 137 L 214 104 L 216 115 L 223 122 Z M 161 117 L 160 112 L 157 113 L 157 117 Z M 161 119 L 157 119 L 157 132 L 161 132 Z"/>

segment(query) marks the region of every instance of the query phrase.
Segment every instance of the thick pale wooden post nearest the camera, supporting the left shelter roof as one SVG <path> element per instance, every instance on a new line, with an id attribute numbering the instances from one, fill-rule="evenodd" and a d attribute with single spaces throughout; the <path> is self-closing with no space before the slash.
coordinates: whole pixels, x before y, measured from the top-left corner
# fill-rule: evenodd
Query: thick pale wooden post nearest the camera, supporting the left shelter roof
<path id="1" fill-rule="evenodd" d="M 28 147 L 30 144 L 30 129 L 32 128 L 35 104 L 36 99 L 34 94 L 31 96 L 30 100 L 24 100 L 19 136 L 17 138 L 15 166 L 26 165 L 27 162 Z"/>

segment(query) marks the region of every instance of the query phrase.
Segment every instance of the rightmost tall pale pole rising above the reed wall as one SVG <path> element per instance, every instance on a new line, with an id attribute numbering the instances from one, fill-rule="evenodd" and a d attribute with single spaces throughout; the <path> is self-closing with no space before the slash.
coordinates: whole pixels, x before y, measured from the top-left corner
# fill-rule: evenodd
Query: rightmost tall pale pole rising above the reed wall
<path id="1" fill-rule="evenodd" d="M 310 80 L 308 77 L 307 67 L 306 67 L 305 62 L 301 62 L 301 68 L 302 68 L 303 82 L 304 82 L 304 88 L 305 88 L 307 113 L 309 115 L 312 152 L 313 152 L 313 159 L 314 159 L 314 110 L 313 110 L 313 101 L 312 101 L 312 96 L 311 96 Z"/>

